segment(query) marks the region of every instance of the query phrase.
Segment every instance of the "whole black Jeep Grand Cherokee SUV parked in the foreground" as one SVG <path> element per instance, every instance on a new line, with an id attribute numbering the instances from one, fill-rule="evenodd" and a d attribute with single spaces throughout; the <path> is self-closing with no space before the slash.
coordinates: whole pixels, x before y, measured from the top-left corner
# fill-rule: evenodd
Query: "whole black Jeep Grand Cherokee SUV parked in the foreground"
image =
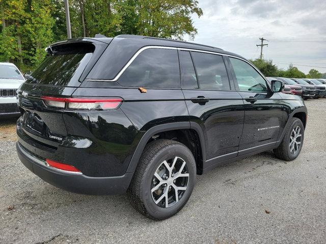
<path id="1" fill-rule="evenodd" d="M 64 190 L 122 194 L 152 219 L 187 202 L 196 174 L 274 149 L 293 160 L 303 100 L 245 58 L 143 36 L 50 45 L 18 90 L 17 152 Z"/>

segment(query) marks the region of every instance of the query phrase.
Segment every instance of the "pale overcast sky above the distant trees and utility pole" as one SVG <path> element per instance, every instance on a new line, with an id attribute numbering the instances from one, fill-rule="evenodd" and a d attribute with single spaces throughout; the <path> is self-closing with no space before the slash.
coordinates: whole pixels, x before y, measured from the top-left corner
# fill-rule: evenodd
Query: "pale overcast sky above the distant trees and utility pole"
<path id="1" fill-rule="evenodd" d="M 326 0 L 199 0 L 199 7 L 204 14 L 193 16 L 193 42 L 256 58 L 263 37 L 264 58 L 279 68 L 292 63 L 304 73 L 326 72 Z"/>

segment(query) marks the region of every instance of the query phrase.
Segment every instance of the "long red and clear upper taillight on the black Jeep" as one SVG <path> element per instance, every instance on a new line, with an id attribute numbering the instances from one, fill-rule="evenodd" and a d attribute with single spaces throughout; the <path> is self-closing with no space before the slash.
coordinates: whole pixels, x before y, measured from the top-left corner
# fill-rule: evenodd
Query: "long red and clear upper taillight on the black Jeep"
<path id="1" fill-rule="evenodd" d="M 58 98 L 41 96 L 45 105 L 51 108 L 76 110 L 116 109 L 123 102 L 122 98 Z"/>

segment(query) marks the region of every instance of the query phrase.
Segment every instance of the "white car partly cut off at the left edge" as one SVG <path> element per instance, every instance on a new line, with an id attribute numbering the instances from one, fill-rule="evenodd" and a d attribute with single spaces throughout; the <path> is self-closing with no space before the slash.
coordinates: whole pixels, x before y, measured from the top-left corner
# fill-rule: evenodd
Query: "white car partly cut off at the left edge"
<path id="1" fill-rule="evenodd" d="M 18 68 L 11 63 L 0 63 L 0 118 L 20 114 L 16 92 L 25 81 Z"/>

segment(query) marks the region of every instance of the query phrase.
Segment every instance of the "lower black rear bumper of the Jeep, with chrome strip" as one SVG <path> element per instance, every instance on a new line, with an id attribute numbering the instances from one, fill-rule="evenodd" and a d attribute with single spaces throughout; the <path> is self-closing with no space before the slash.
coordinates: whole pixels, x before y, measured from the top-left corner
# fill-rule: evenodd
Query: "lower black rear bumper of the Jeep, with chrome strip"
<path id="1" fill-rule="evenodd" d="M 133 173 L 114 177 L 90 177 L 66 173 L 46 166 L 44 160 L 32 155 L 17 142 L 17 154 L 23 165 L 49 184 L 63 190 L 89 195 L 117 195 L 127 191 Z"/>

